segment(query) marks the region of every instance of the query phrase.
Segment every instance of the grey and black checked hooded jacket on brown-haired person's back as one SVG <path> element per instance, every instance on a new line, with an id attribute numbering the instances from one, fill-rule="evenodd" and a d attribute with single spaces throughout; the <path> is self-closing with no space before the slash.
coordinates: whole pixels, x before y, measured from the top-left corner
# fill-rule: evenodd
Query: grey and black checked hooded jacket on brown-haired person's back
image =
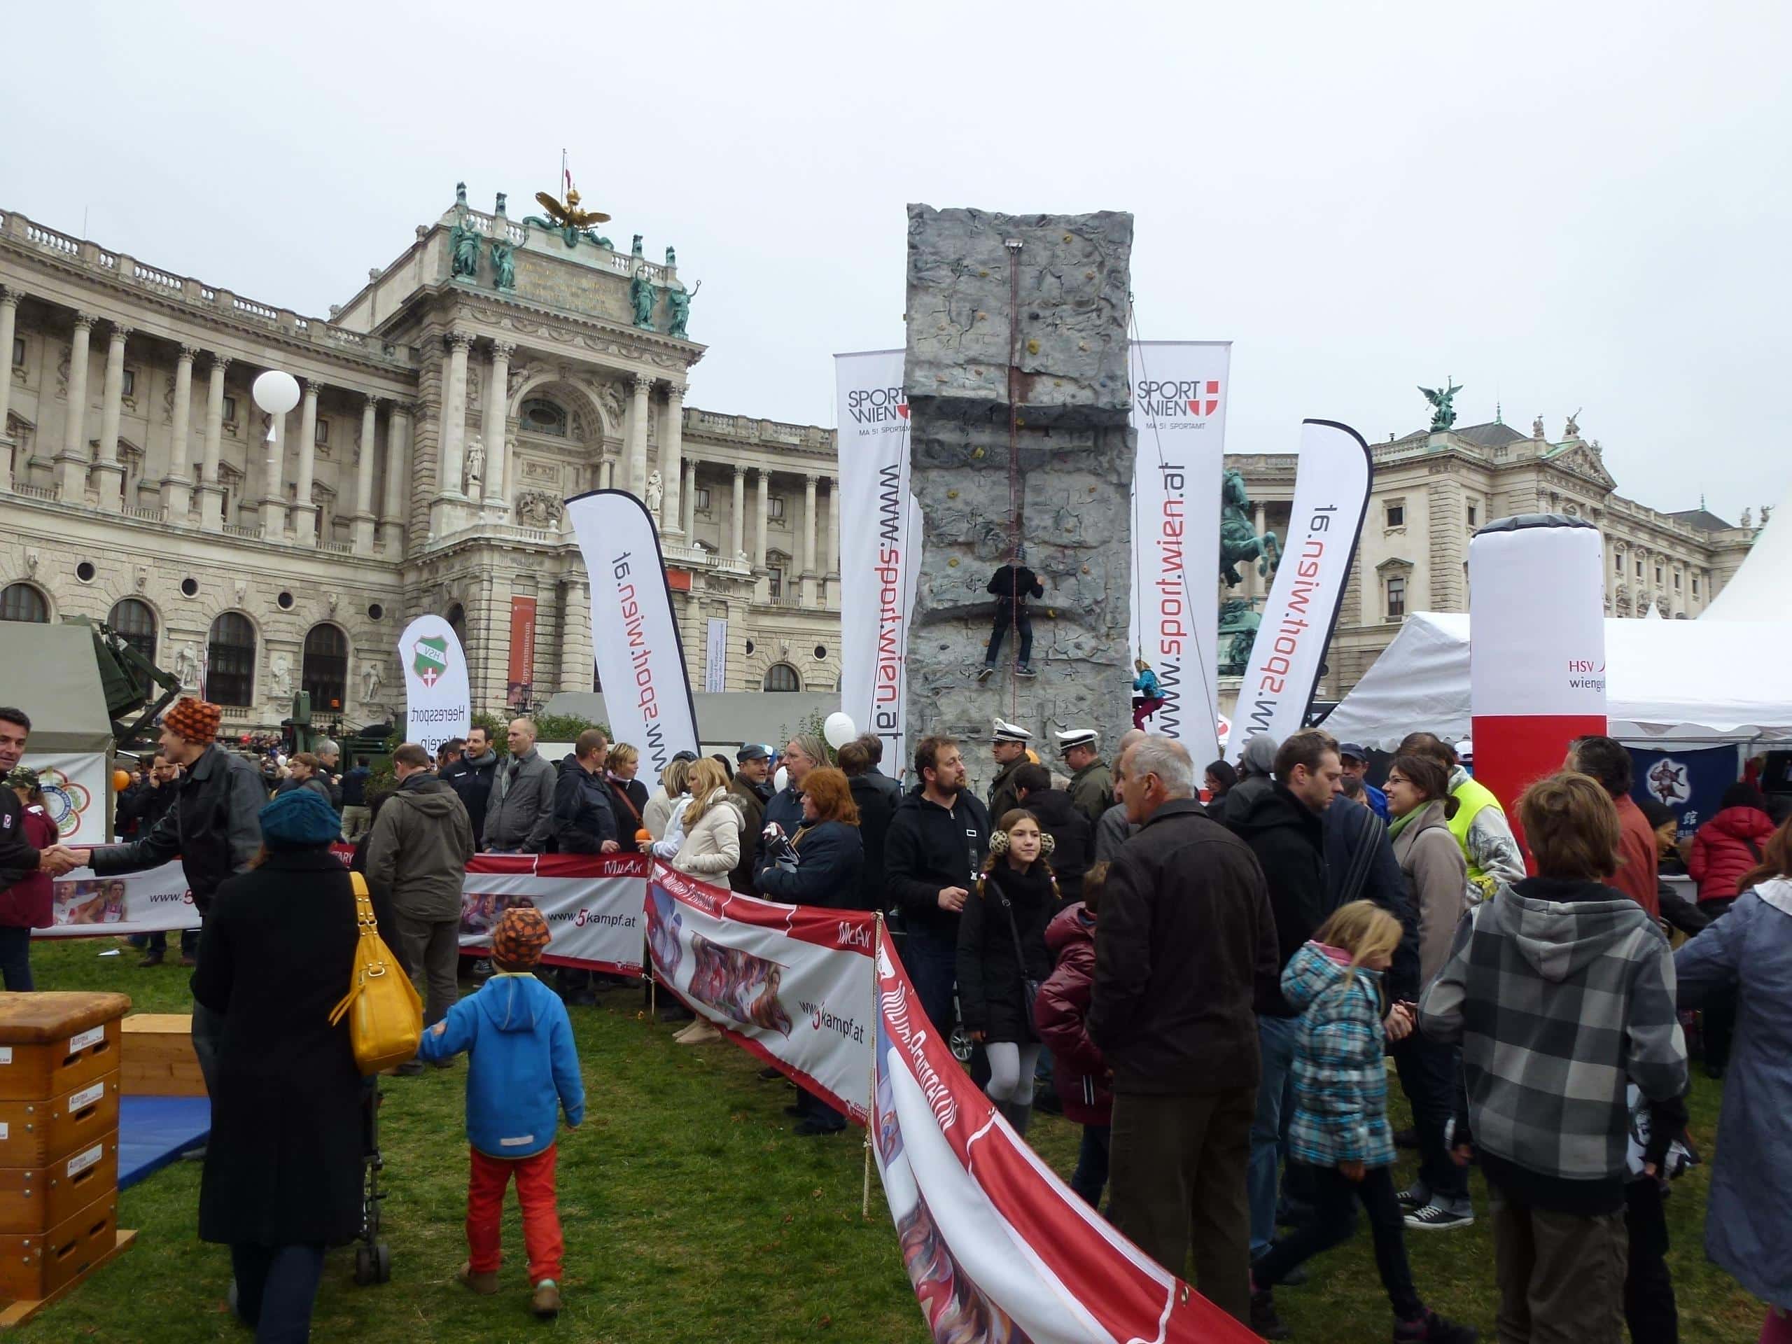
<path id="1" fill-rule="evenodd" d="M 1667 939 L 1595 882 L 1525 878 L 1469 910 L 1419 1027 L 1462 1045 L 1475 1143 L 1561 1181 L 1624 1176 L 1627 1082 L 1686 1088 Z"/>

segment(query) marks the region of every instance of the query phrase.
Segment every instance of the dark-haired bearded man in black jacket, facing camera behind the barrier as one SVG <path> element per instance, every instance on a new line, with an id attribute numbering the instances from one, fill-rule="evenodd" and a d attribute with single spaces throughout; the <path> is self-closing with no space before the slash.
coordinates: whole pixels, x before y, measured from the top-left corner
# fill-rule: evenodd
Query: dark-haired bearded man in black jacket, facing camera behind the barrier
<path id="1" fill-rule="evenodd" d="M 964 787 L 964 758 L 950 737 L 914 749 L 921 781 L 896 806 L 883 840 L 883 889 L 901 909 L 901 961 L 934 1029 L 952 1032 L 959 971 L 959 912 L 989 849 L 989 814 Z"/>

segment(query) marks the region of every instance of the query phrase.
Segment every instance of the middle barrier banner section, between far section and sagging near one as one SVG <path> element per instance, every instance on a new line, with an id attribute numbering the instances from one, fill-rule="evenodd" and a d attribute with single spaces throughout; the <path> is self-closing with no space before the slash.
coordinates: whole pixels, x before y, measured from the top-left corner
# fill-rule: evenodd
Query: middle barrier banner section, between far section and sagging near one
<path id="1" fill-rule="evenodd" d="M 659 982 L 858 1124 L 871 1111 L 876 926 L 867 910 L 762 901 L 659 862 L 647 885 Z"/>

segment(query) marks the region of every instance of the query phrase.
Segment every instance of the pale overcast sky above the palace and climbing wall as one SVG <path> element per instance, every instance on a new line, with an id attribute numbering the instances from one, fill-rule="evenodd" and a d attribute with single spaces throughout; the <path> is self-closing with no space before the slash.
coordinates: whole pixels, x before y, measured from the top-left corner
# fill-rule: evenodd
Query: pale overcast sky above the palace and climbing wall
<path id="1" fill-rule="evenodd" d="M 1233 452 L 1322 416 L 1552 439 L 1735 520 L 1792 480 L 1785 4 L 13 5 L 0 208 L 323 315 L 561 149 L 702 280 L 694 405 L 833 423 L 903 342 L 903 204 L 1129 210 Z"/>

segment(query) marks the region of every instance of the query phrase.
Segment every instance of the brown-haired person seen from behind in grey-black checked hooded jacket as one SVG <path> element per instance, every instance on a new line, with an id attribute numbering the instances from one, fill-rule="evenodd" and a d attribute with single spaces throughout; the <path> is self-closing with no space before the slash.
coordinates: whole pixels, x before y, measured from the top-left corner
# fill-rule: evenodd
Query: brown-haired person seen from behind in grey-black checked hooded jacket
<path id="1" fill-rule="evenodd" d="M 1455 1150 L 1468 1161 L 1473 1142 L 1493 1195 L 1500 1339 L 1618 1344 L 1625 1088 L 1650 1102 L 1686 1090 L 1674 959 L 1606 885 L 1622 831 L 1602 785 L 1563 772 L 1518 810 L 1538 876 L 1464 916 L 1419 1027 L 1462 1045 Z"/>

